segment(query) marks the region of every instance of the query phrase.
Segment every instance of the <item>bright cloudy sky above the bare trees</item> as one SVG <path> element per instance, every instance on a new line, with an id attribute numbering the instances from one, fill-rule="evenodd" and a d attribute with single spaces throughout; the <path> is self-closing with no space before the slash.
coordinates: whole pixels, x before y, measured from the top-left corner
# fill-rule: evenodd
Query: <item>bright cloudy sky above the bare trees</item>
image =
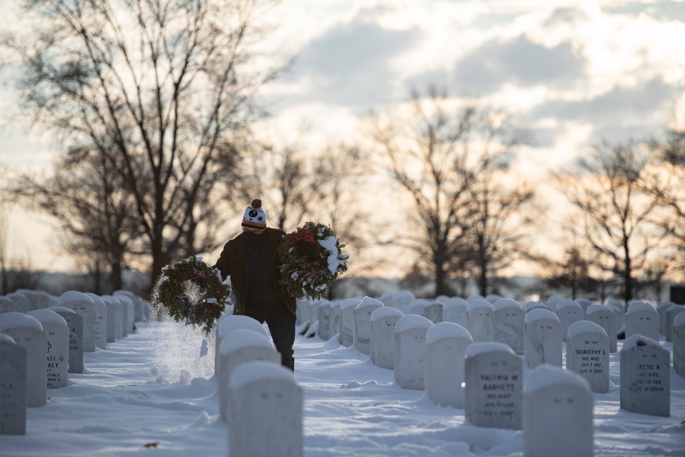
<path id="1" fill-rule="evenodd" d="M 685 111 L 683 1 L 283 0 L 275 17 L 296 60 L 264 100 L 312 137 L 355 138 L 360 115 L 438 86 L 516 113 L 532 132 L 521 166 L 542 176 Z M 42 163 L 44 147 L 0 132 L 1 162 Z"/>

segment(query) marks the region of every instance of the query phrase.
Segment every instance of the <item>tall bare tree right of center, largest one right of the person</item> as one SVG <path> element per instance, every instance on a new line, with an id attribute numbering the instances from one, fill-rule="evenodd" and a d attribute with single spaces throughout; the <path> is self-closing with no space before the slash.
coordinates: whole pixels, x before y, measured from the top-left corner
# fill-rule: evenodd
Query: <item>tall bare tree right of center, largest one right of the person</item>
<path id="1" fill-rule="evenodd" d="M 414 203 L 412 216 L 420 229 L 416 236 L 411 230 L 403 235 L 419 254 L 414 270 L 427 269 L 432 274 L 436 295 L 451 293 L 448 267 L 465 266 L 460 260 L 473 254 L 466 240 L 473 222 L 484 214 L 489 221 L 482 230 L 486 243 L 486 227 L 493 227 L 487 225 L 492 223 L 491 214 L 471 204 L 471 199 L 484 197 L 480 192 L 486 189 L 494 195 L 493 189 L 499 188 L 496 182 L 481 186 L 479 182 L 506 169 L 521 140 L 506 113 L 479 108 L 472 100 L 460 108 L 450 103 L 455 101 L 435 88 L 429 89 L 427 97 L 414 92 L 408 114 L 402 116 L 398 110 L 385 122 L 376 119 L 372 132 L 388 159 L 390 175 Z M 488 238 L 488 243 L 495 238 Z"/>

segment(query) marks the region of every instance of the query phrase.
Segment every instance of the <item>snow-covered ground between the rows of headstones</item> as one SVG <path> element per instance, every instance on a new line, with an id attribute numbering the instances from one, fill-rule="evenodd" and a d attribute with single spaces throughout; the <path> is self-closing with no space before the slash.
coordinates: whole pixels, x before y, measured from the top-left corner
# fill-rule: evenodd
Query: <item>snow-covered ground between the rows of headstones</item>
<path id="1" fill-rule="evenodd" d="M 203 339 L 182 323 L 138 323 L 136 333 L 84 354 L 83 374 L 29 408 L 25 435 L 0 435 L 0 456 L 226 456 L 214 341 Z M 337 336 L 298 335 L 295 358 L 306 457 L 523 456 L 523 432 L 471 425 L 464 410 L 400 388 L 392 371 Z M 685 379 L 671 368 L 671 417 L 619 408 L 618 353 L 610 382 L 608 393 L 594 394 L 595 456 L 685 456 Z"/>

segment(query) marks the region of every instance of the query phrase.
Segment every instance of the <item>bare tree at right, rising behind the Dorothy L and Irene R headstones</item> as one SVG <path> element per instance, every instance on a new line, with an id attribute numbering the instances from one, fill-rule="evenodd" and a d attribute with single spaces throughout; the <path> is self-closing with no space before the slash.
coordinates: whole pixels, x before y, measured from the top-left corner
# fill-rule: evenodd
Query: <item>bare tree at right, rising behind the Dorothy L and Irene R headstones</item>
<path id="1" fill-rule="evenodd" d="M 577 172 L 557 174 L 558 185 L 580 214 L 582 240 L 595 266 L 612 273 L 623 299 L 632 299 L 636 275 L 649 267 L 649 253 L 662 236 L 651 217 L 658 198 L 649 192 L 649 157 L 640 145 L 604 144 L 592 157 L 580 160 Z"/>

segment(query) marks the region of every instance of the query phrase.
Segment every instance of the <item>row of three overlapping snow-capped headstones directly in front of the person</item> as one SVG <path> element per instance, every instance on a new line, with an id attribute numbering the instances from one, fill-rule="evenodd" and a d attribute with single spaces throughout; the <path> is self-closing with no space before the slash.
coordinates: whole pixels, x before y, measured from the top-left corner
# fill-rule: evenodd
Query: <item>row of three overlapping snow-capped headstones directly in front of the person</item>
<path id="1" fill-rule="evenodd" d="M 225 314 L 216 325 L 219 413 L 229 455 L 301 457 L 303 393 L 264 326 Z"/>

